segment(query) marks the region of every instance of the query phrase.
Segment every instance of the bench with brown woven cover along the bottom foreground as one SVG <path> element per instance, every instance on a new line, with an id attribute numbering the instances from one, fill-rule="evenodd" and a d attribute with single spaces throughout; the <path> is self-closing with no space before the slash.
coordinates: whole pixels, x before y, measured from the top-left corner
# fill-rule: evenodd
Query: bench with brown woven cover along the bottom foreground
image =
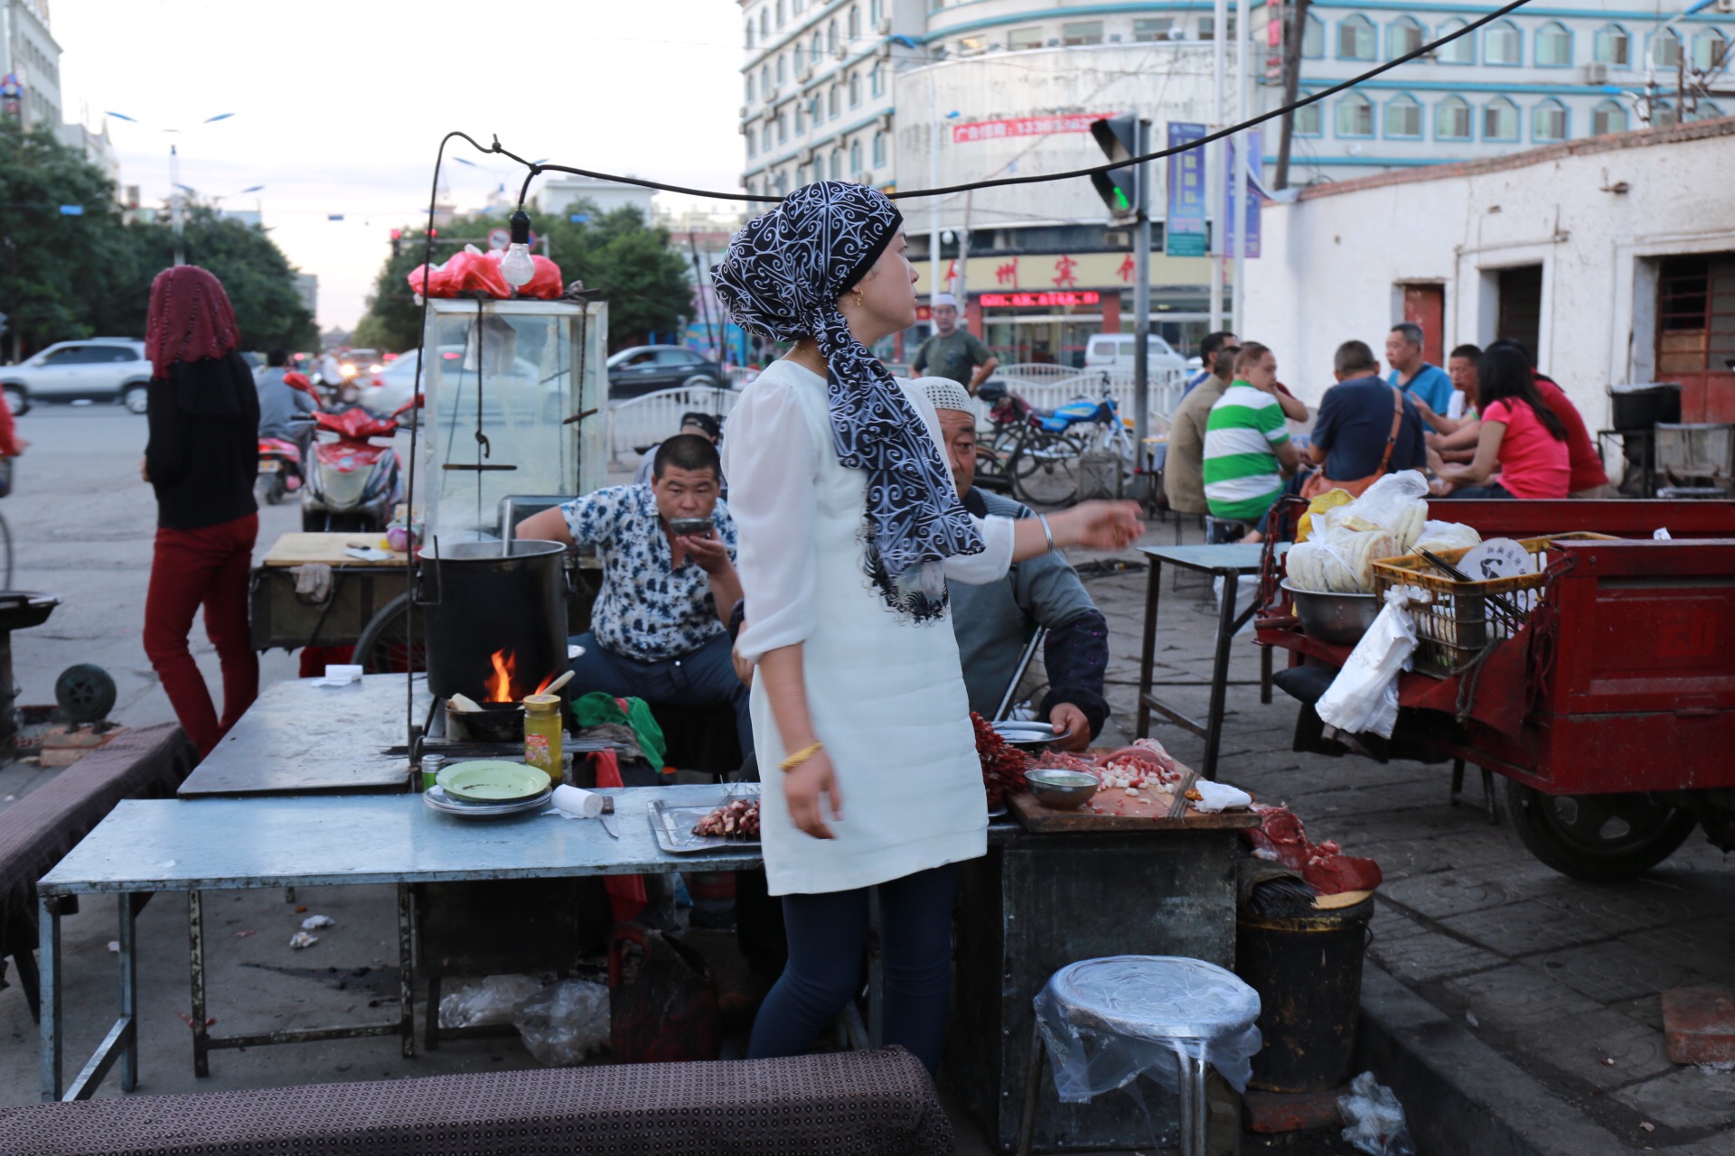
<path id="1" fill-rule="evenodd" d="M 946 1156 L 953 1127 L 902 1049 L 486 1071 L 0 1107 L 33 1156 Z"/>

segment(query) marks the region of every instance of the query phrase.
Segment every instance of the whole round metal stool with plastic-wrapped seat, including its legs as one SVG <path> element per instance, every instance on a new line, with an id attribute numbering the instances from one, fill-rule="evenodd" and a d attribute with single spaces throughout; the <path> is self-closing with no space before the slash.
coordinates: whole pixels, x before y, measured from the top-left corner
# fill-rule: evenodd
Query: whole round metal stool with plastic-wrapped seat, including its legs
<path id="1" fill-rule="evenodd" d="M 1036 1031 L 1025 1068 L 1017 1154 L 1027 1156 L 1031 1151 L 1043 1057 L 1048 1055 L 1048 1040 L 1053 1040 L 1057 1052 L 1067 1052 L 1067 1064 L 1055 1071 L 1055 1090 L 1070 1102 L 1126 1087 L 1138 1075 L 1156 1071 L 1169 1076 L 1166 1064 L 1173 1061 L 1180 1094 L 1182 1156 L 1204 1156 L 1206 1064 L 1211 1062 L 1237 1090 L 1244 1088 L 1251 1075 L 1249 1061 L 1260 1049 L 1260 1029 L 1254 1026 L 1258 1019 L 1260 993 L 1234 972 L 1204 960 L 1112 955 L 1062 967 L 1036 997 Z M 1093 1049 L 1090 1075 L 1100 1087 L 1076 1083 L 1086 1059 L 1086 1038 L 1098 1045 L 1135 1045 L 1121 1062 L 1107 1068 L 1103 1047 Z M 1159 1047 L 1140 1054 L 1138 1043 Z M 1072 1081 L 1070 1087 L 1062 1085 L 1064 1076 Z"/>

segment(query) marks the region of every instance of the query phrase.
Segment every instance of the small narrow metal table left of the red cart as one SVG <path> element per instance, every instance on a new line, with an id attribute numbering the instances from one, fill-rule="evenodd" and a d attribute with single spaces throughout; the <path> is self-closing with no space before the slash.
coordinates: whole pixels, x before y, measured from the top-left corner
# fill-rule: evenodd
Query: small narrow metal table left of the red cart
<path id="1" fill-rule="evenodd" d="M 1279 549 L 1287 549 L 1279 546 Z M 1265 546 L 1140 546 L 1138 553 L 1150 560 L 1150 574 L 1145 582 L 1145 648 L 1138 660 L 1138 737 L 1143 738 L 1150 733 L 1150 712 L 1164 716 L 1176 726 L 1185 726 L 1194 735 L 1204 738 L 1204 759 L 1201 759 L 1199 773 L 1206 778 L 1216 778 L 1216 754 L 1223 733 L 1223 698 L 1228 683 L 1228 646 L 1235 638 L 1235 631 L 1247 624 L 1253 617 L 1254 605 L 1249 605 L 1239 615 L 1235 614 L 1235 589 L 1242 577 L 1251 577 L 1260 572 L 1261 558 L 1265 556 Z M 1162 593 L 1162 563 L 1171 567 L 1180 567 L 1182 570 L 1197 570 L 1201 574 L 1209 574 L 1213 577 L 1223 579 L 1221 607 L 1218 610 L 1216 622 L 1216 662 L 1211 667 L 1211 681 L 1178 681 L 1178 683 L 1152 683 L 1152 666 L 1156 664 L 1157 653 L 1157 601 Z M 1237 686 L 1251 686 L 1251 681 L 1235 683 Z M 1176 707 L 1157 698 L 1150 693 L 1152 686 L 1209 686 L 1211 688 L 1211 705 L 1206 714 L 1206 721 L 1201 724 L 1194 718 L 1183 714 Z M 1268 646 L 1260 650 L 1260 702 L 1270 704 L 1272 700 L 1272 652 Z"/>

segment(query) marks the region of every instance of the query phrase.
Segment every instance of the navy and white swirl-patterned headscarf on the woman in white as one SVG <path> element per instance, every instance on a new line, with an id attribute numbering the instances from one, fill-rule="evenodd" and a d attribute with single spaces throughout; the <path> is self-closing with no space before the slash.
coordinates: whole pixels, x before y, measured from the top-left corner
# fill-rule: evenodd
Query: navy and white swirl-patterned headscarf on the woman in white
<path id="1" fill-rule="evenodd" d="M 748 222 L 711 281 L 743 329 L 819 343 L 838 459 L 868 473 L 868 574 L 894 610 L 921 620 L 946 608 L 940 562 L 980 553 L 982 534 L 921 416 L 838 308 L 902 224 L 885 194 L 821 180 Z"/>

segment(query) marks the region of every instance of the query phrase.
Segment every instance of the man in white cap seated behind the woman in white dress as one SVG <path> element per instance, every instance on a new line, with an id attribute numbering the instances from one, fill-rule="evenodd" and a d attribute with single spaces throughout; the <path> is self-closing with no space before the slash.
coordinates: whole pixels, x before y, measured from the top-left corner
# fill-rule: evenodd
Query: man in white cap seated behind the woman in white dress
<path id="1" fill-rule="evenodd" d="M 1010 497 L 975 489 L 975 414 L 963 386 L 946 378 L 923 378 L 921 388 L 939 411 L 953 478 L 965 508 L 979 518 L 1034 516 Z M 1109 624 L 1065 556 L 1058 551 L 1039 555 L 1013 563 L 1012 572 L 998 582 L 951 582 L 947 593 L 970 709 L 985 719 L 994 718 L 1029 633 L 1044 626 L 1048 693 L 1038 711 L 1053 723 L 1057 735 L 1065 735 L 1057 747 L 1090 747 L 1109 718 L 1109 704 L 1102 697 L 1102 678 L 1109 667 Z"/>

